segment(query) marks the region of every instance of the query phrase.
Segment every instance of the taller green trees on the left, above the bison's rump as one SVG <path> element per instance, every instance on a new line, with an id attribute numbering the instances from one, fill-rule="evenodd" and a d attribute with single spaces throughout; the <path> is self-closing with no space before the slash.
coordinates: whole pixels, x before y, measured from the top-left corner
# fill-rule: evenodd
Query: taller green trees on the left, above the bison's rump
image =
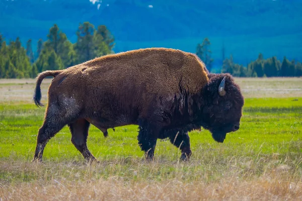
<path id="1" fill-rule="evenodd" d="M 111 54 L 114 45 L 114 37 L 106 26 L 95 28 L 89 22 L 79 25 L 74 44 L 55 24 L 49 29 L 47 40 L 38 41 L 36 52 L 31 39 L 24 48 L 19 37 L 7 44 L 0 33 L 0 78 L 34 78 L 44 70 L 60 70 Z"/>

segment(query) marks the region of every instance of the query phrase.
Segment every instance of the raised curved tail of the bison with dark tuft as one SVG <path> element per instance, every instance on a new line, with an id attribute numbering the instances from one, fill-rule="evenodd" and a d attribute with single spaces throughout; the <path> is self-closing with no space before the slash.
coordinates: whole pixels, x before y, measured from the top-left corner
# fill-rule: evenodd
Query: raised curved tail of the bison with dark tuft
<path id="1" fill-rule="evenodd" d="M 55 77 L 58 74 L 60 74 L 62 72 L 62 70 L 46 70 L 44 72 L 41 72 L 38 76 L 37 76 L 37 82 L 36 82 L 36 88 L 34 91 L 34 96 L 33 96 L 33 100 L 36 104 L 36 106 L 41 106 L 43 107 L 44 105 L 40 102 L 42 94 L 41 94 L 41 83 L 42 80 L 47 77 L 47 76 L 52 76 Z"/>

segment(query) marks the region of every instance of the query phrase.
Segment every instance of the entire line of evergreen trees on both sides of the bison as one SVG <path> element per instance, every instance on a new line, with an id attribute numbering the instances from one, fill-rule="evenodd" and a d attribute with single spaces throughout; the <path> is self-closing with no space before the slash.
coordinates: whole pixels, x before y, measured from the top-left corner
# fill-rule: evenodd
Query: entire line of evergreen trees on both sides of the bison
<path id="1" fill-rule="evenodd" d="M 24 48 L 19 37 L 7 44 L 0 33 L 0 78 L 34 78 L 44 70 L 64 69 L 111 54 L 114 45 L 114 37 L 106 26 L 95 28 L 89 22 L 79 25 L 77 42 L 73 44 L 55 24 L 49 29 L 47 40 L 38 41 L 36 52 L 33 52 L 31 39 Z M 196 46 L 196 55 L 209 71 L 212 70 L 213 63 L 210 45 L 209 39 L 205 38 Z M 224 58 L 223 45 L 222 60 L 220 72 L 231 73 L 237 77 L 302 76 L 302 64 L 289 61 L 286 57 L 281 62 L 276 57 L 264 59 L 260 53 L 255 61 L 243 66 L 235 63 L 232 55 Z"/>

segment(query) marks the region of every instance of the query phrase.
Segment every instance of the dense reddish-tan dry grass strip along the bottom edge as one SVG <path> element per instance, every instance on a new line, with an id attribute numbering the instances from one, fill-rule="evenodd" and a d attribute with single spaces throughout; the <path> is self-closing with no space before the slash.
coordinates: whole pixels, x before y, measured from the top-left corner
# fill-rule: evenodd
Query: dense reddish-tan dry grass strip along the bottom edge
<path id="1" fill-rule="evenodd" d="M 281 180 L 281 181 L 280 181 Z M 2 186 L 2 200 L 301 200 L 301 183 L 263 177 L 249 181 L 123 182 L 118 178 Z"/>

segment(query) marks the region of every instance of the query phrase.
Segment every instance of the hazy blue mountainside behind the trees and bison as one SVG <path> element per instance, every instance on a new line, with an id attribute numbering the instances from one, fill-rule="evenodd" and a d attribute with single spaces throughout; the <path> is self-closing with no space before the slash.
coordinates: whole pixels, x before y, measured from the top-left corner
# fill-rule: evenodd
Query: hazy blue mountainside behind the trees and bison
<path id="1" fill-rule="evenodd" d="M 71 42 L 79 23 L 104 24 L 115 52 L 171 47 L 195 52 L 208 37 L 214 64 L 225 55 L 247 64 L 264 57 L 302 61 L 302 1 L 299 0 L 0 0 L 0 32 L 7 40 L 46 39 L 54 23 Z"/>

